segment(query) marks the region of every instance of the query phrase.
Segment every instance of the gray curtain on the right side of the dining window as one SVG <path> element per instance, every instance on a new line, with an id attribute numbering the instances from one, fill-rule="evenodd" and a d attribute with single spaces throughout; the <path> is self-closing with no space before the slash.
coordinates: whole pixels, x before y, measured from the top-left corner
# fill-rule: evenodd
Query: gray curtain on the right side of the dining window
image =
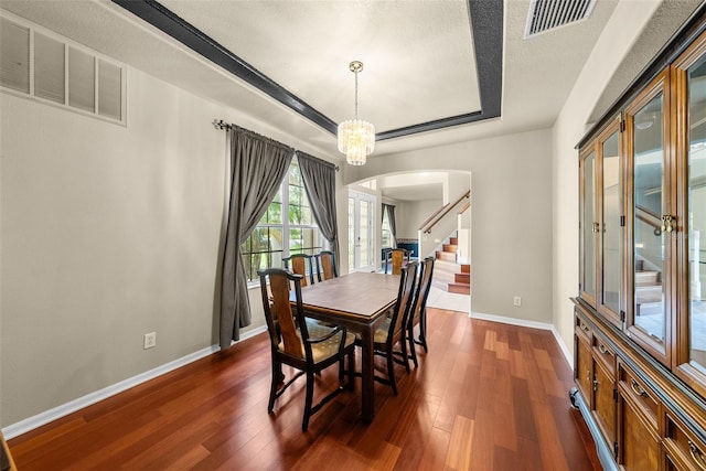
<path id="1" fill-rule="evenodd" d="M 335 167 L 308 153 L 297 151 L 304 191 L 321 235 L 331 244 L 339 265 L 339 224 L 335 216 Z M 339 267 L 336 267 L 339 268 Z"/>

